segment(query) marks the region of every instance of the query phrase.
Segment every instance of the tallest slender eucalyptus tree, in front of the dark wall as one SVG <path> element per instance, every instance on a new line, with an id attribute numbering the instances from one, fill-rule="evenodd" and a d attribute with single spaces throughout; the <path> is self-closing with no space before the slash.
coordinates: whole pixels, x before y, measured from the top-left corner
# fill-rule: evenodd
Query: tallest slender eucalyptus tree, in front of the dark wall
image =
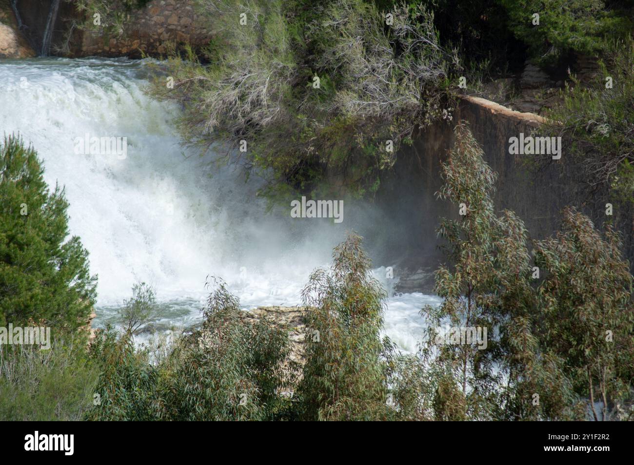
<path id="1" fill-rule="evenodd" d="M 433 373 L 434 416 L 567 417 L 573 393 L 562 376 L 562 360 L 543 352 L 535 334 L 538 303 L 526 227 L 512 211 L 496 214 L 496 174 L 483 156 L 467 125 L 456 125 L 437 194 L 458 213 L 441 220 L 438 229 L 448 258 L 436 271 L 435 290 L 443 303 L 422 312 L 430 324 L 421 355 Z M 484 340 L 469 340 L 467 334 Z M 540 402 L 545 392 L 549 400 L 566 402 Z"/>

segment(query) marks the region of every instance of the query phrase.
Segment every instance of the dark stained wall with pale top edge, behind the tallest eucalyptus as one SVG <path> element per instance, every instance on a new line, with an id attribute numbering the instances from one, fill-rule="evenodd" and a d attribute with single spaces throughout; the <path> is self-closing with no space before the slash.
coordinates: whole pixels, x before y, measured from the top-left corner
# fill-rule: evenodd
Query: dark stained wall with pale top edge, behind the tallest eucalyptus
<path id="1" fill-rule="evenodd" d="M 453 115 L 453 122 L 469 122 L 475 139 L 481 144 L 485 160 L 498 173 L 495 206 L 498 212 L 508 208 L 524 220 L 529 238 L 544 239 L 560 228 L 560 211 L 566 205 L 577 207 L 597 227 L 612 220 L 623 234 L 624 255 L 634 262 L 634 220 L 630 210 L 614 210 L 605 215 L 609 203 L 607 186 L 590 192 L 579 178 L 576 162 L 562 148 L 560 160 L 550 155 L 510 155 L 510 137 L 520 132 L 529 135 L 542 118 L 520 113 L 481 98 L 465 97 Z M 458 218 L 458 206 L 436 199 L 441 187 L 440 163 L 453 145 L 453 123 L 440 122 L 421 131 L 410 148 L 398 154 L 394 171 L 387 176 L 378 193 L 378 205 L 384 210 L 384 224 L 398 225 L 391 253 L 401 257 L 394 267 L 399 277 L 397 291 L 430 291 L 433 280 L 429 271 L 445 261 L 439 250 L 441 239 L 436 227 L 441 217 Z M 535 173 L 531 158 L 547 156 L 547 167 Z M 400 268 L 400 269 L 399 269 Z"/>

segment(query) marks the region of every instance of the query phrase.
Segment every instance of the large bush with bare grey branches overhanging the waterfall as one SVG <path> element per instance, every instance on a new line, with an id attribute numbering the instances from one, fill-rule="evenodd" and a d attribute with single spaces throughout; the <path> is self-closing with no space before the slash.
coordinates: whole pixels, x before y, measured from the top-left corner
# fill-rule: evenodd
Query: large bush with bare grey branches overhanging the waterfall
<path id="1" fill-rule="evenodd" d="M 160 77 L 151 93 L 183 106 L 185 144 L 224 148 L 266 174 L 269 193 L 280 184 L 317 189 L 326 175 L 373 191 L 394 163 L 388 139 L 396 151 L 417 125 L 451 118 L 443 89 L 457 59 L 438 45 L 422 7 L 395 8 L 388 26 L 361 0 L 198 4 L 217 32 L 210 64 L 172 58 L 173 89 Z M 234 151 L 241 141 L 245 153 Z"/>

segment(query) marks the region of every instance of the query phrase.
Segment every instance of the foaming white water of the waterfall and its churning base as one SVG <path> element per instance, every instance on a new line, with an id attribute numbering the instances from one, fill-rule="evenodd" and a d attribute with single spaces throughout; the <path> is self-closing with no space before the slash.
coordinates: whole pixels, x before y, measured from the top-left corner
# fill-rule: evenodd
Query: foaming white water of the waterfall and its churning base
<path id="1" fill-rule="evenodd" d="M 144 67 L 129 60 L 0 61 L 0 129 L 20 132 L 44 160 L 49 186 L 65 186 L 70 231 L 99 278 L 96 326 L 116 322 L 139 281 L 157 290 L 166 327 L 200 319 L 208 275 L 224 279 L 245 308 L 301 303 L 310 272 L 329 264 L 348 229 L 368 222 L 370 207 L 346 202 L 342 224 L 291 219 L 290 210 L 266 213 L 254 196 L 257 179 L 245 184 L 238 169 L 210 167 L 212 155 L 183 153 L 170 124 L 176 109 L 143 94 Z M 75 137 L 86 133 L 127 137 L 127 157 L 75 155 Z M 437 302 L 420 293 L 392 296 L 385 333 L 415 350 L 418 312 Z"/>

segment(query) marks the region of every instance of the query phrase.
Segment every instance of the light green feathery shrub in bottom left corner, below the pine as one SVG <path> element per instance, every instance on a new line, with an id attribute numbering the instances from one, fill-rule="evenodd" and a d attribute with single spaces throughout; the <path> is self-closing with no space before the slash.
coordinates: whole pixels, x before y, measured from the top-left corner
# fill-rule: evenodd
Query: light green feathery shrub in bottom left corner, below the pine
<path id="1" fill-rule="evenodd" d="M 0 419 L 80 421 L 93 405 L 97 378 L 82 338 L 55 338 L 48 350 L 0 346 Z"/>

